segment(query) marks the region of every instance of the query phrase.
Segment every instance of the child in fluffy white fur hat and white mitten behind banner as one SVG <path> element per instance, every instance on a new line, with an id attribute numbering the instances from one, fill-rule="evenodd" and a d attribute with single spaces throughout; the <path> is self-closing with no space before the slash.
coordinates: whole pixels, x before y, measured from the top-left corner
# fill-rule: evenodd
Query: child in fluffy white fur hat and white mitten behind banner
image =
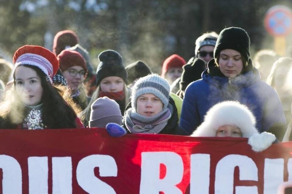
<path id="1" fill-rule="evenodd" d="M 204 122 L 193 132 L 193 137 L 245 137 L 255 152 L 267 149 L 276 141 L 268 132 L 259 134 L 255 116 L 247 106 L 236 101 L 224 101 L 211 107 Z"/>

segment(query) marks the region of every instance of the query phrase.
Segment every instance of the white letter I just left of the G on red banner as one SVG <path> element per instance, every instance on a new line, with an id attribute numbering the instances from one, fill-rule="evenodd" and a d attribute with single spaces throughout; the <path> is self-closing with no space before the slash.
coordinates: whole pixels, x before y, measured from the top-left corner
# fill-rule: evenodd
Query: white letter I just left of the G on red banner
<path id="1" fill-rule="evenodd" d="M 191 155 L 190 194 L 209 194 L 210 154 Z"/>

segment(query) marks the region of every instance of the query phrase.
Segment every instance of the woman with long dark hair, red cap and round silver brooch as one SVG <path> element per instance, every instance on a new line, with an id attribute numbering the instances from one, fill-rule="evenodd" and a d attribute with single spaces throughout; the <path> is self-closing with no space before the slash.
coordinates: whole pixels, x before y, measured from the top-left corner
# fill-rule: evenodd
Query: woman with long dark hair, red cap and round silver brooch
<path id="1" fill-rule="evenodd" d="M 15 52 L 13 63 L 13 85 L 0 105 L 0 129 L 84 127 L 69 101 L 61 96 L 64 91 L 52 84 L 59 69 L 54 53 L 25 45 Z"/>

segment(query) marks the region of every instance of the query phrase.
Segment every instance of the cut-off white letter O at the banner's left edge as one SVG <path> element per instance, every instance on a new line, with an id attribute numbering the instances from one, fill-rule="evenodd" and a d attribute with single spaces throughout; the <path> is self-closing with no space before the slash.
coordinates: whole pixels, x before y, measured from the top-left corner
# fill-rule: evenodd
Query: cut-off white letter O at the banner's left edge
<path id="1" fill-rule="evenodd" d="M 0 168 L 3 171 L 3 194 L 22 194 L 21 168 L 17 160 L 11 156 L 0 155 Z"/>

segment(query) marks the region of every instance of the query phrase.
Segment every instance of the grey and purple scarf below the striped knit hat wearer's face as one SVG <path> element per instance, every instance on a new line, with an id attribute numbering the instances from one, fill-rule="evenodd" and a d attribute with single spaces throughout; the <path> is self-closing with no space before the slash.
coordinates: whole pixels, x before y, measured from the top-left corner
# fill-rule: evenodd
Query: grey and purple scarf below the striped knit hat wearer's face
<path id="1" fill-rule="evenodd" d="M 158 134 L 167 125 L 171 117 L 170 109 L 164 109 L 154 116 L 142 116 L 137 112 L 128 109 L 125 117 L 125 125 L 131 133 L 152 133 Z"/>

